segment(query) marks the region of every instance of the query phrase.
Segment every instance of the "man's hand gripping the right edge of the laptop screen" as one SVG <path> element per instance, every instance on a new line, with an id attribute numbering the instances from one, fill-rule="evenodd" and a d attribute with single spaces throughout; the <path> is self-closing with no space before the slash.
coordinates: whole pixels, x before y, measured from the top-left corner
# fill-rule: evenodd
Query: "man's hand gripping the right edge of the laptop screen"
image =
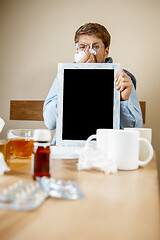
<path id="1" fill-rule="evenodd" d="M 120 91 L 121 101 L 128 100 L 133 85 L 131 78 L 121 69 L 118 71 L 115 81 L 117 85 L 117 90 Z"/>

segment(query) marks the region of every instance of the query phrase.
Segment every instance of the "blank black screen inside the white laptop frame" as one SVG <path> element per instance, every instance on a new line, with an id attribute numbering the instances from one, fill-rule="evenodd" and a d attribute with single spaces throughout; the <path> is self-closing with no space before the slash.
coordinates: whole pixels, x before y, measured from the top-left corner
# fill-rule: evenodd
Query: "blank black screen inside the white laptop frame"
<path id="1" fill-rule="evenodd" d="M 113 128 L 114 70 L 64 69 L 62 139 L 86 140 Z"/>

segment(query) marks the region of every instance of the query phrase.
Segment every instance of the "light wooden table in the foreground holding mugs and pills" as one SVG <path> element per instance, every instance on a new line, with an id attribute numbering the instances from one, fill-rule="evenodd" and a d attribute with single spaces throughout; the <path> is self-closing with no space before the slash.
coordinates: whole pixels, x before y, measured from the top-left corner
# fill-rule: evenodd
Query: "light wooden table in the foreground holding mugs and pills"
<path id="1" fill-rule="evenodd" d="M 48 198 L 31 212 L 0 209 L 0 239 L 159 240 L 156 157 L 144 168 L 106 175 L 77 171 L 77 159 L 52 160 L 52 177 L 76 181 L 86 199 Z M 30 160 L 10 162 L 0 192 L 18 180 L 31 180 Z"/>

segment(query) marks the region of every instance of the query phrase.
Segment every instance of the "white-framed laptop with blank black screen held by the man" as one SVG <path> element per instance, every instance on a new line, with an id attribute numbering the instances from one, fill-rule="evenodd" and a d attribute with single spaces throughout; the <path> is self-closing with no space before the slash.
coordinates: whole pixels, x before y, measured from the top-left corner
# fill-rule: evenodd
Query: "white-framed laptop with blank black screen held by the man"
<path id="1" fill-rule="evenodd" d="M 119 129 L 118 63 L 59 63 L 58 116 L 53 158 L 78 158 L 98 128 Z"/>

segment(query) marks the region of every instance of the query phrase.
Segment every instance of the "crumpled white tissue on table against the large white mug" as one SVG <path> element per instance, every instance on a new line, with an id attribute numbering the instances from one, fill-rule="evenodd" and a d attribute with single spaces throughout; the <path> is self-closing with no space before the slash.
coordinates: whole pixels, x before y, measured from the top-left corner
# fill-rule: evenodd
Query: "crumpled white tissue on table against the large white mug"
<path id="1" fill-rule="evenodd" d="M 109 174 L 117 172 L 117 164 L 97 147 L 89 146 L 79 153 L 77 169 L 97 169 Z"/>

